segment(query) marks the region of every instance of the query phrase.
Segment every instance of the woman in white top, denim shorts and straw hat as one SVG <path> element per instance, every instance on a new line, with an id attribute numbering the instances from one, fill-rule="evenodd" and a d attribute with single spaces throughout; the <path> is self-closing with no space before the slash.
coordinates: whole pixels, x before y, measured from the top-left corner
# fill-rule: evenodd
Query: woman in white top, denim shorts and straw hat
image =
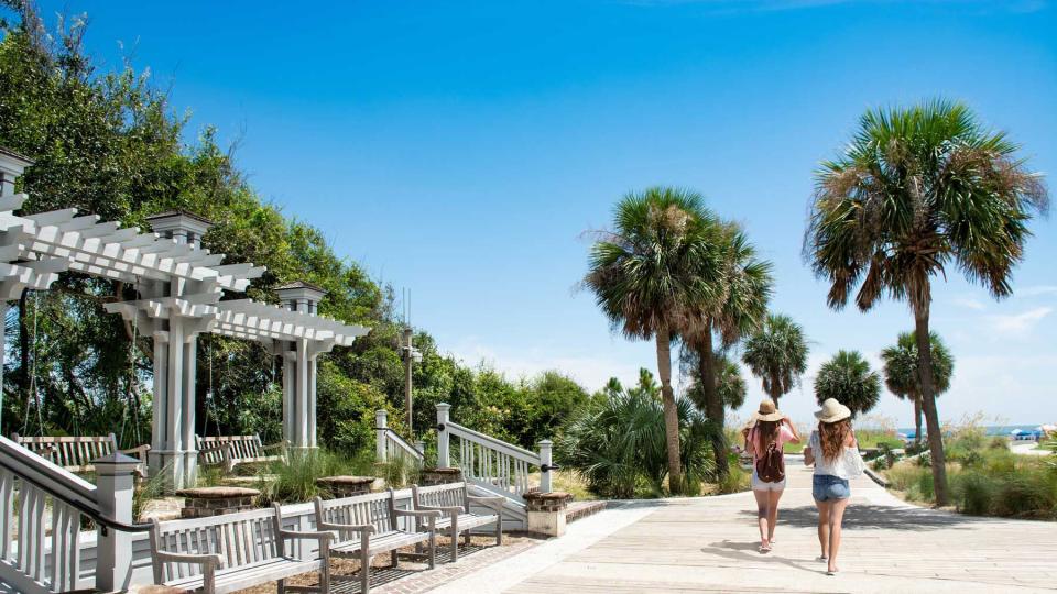
<path id="1" fill-rule="evenodd" d="M 804 463 L 815 464 L 811 495 L 818 506 L 818 543 L 822 549 L 818 560 L 827 562 L 828 575 L 835 575 L 841 522 L 851 497 L 848 480 L 862 474 L 863 464 L 847 406 L 829 398 L 822 403 L 822 409 L 815 413 L 815 418 L 818 430 L 813 431 L 807 441 Z"/>

